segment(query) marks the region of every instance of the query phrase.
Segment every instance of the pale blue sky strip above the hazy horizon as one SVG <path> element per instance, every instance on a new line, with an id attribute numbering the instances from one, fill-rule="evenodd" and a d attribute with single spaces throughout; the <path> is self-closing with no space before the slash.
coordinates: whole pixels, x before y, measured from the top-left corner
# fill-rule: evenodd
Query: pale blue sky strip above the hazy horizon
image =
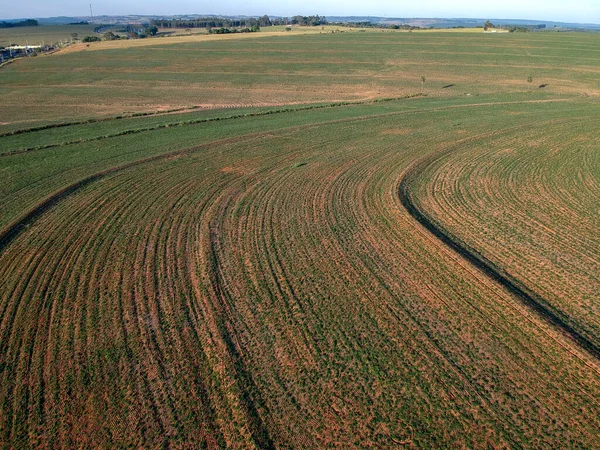
<path id="1" fill-rule="evenodd" d="M 2 2 L 0 18 L 222 14 L 530 19 L 600 23 L 600 0 L 22 0 Z"/>

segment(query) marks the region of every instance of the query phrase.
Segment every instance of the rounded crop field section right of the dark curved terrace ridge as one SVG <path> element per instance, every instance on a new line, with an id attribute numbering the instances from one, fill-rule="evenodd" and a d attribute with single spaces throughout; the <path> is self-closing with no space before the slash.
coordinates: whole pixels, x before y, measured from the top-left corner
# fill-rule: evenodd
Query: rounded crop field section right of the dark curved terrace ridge
<path id="1" fill-rule="evenodd" d="M 598 354 L 600 241 L 593 114 L 465 145 L 421 170 L 417 208 L 485 264 L 520 280 Z M 481 259 L 481 257 L 478 257 Z"/>

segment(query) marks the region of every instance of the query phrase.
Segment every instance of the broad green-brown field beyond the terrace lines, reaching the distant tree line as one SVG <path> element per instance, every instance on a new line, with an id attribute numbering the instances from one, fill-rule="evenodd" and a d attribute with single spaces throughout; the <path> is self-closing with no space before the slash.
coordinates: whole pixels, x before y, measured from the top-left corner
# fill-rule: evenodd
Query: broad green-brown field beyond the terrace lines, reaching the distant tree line
<path id="1" fill-rule="evenodd" d="M 98 42 L 43 61 L 21 60 L 0 73 L 0 126 L 28 128 L 159 108 L 364 101 L 421 92 L 600 93 L 595 34 L 302 33 Z"/>

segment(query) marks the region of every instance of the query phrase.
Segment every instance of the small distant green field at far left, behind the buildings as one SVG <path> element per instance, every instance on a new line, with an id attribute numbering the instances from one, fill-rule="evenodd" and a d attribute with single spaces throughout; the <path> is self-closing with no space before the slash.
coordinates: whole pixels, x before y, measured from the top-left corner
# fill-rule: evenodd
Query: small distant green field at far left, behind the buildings
<path id="1" fill-rule="evenodd" d="M 76 33 L 81 39 L 96 36 L 94 29 L 98 25 L 40 25 L 37 27 L 0 28 L 0 45 L 46 45 L 68 42 Z"/>

